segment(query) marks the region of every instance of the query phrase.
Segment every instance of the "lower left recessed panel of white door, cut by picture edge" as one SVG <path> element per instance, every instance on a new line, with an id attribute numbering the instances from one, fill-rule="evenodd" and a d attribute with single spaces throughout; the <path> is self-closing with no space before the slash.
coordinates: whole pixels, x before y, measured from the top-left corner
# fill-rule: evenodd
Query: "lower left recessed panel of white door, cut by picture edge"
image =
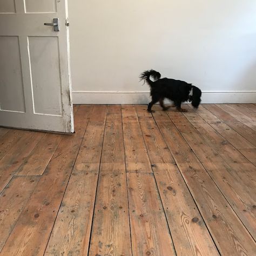
<path id="1" fill-rule="evenodd" d="M 1 61 L 4 59 L 8 61 Z M 17 36 L 0 36 L 0 70 L 0 109 L 25 112 L 21 56 Z"/>

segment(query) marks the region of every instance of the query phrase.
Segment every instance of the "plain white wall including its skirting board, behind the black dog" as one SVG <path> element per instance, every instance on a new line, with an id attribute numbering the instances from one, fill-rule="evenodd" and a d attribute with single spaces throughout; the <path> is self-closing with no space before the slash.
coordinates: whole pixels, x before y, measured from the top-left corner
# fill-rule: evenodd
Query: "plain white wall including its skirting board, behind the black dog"
<path id="1" fill-rule="evenodd" d="M 151 68 L 232 92 L 204 102 L 256 102 L 255 0 L 70 0 L 69 18 L 75 103 L 145 103 Z"/>

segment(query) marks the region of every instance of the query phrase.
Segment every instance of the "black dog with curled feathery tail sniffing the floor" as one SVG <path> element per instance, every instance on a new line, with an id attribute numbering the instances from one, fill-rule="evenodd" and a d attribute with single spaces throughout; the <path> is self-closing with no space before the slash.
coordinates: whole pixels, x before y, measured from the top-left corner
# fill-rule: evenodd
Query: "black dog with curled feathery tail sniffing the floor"
<path id="1" fill-rule="evenodd" d="M 150 76 L 154 78 L 156 81 L 150 80 Z M 160 103 L 163 110 L 169 109 L 170 106 L 164 105 L 164 99 L 170 99 L 174 102 L 173 106 L 176 107 L 178 111 L 186 112 L 187 110 L 181 109 L 181 103 L 189 100 L 192 102 L 192 106 L 198 108 L 201 102 L 201 90 L 192 85 L 188 84 L 181 80 L 169 79 L 169 78 L 161 78 L 159 72 L 154 70 L 144 71 L 140 74 L 140 81 L 144 80 L 147 84 L 150 85 L 150 95 L 152 97 L 152 101 L 147 106 L 147 111 L 153 112 L 151 107 L 157 102 Z"/>

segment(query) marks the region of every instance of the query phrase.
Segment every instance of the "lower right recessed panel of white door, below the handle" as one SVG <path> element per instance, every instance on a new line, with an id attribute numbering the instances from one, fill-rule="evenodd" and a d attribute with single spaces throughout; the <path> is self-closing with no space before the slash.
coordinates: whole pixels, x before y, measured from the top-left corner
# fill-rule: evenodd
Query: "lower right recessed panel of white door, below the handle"
<path id="1" fill-rule="evenodd" d="M 35 113 L 61 116 L 58 37 L 29 37 L 29 56 Z M 45 76 L 49 73 L 51 77 Z"/>

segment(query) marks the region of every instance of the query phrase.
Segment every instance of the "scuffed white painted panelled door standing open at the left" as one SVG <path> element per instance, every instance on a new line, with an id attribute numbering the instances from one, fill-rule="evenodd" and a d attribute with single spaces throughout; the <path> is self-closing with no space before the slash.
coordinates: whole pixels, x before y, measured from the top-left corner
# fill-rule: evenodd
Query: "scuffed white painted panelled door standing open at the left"
<path id="1" fill-rule="evenodd" d="M 67 1 L 0 0 L 0 126 L 73 132 Z"/>

